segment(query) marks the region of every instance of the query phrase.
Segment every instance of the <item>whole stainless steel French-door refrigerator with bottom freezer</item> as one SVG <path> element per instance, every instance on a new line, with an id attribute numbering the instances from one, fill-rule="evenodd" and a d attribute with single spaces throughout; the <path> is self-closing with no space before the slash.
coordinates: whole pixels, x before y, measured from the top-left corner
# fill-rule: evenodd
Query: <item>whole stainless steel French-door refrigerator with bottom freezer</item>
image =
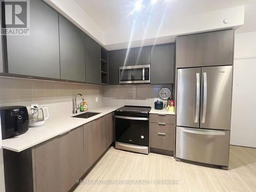
<path id="1" fill-rule="evenodd" d="M 232 71 L 177 70 L 176 158 L 228 167 Z"/>

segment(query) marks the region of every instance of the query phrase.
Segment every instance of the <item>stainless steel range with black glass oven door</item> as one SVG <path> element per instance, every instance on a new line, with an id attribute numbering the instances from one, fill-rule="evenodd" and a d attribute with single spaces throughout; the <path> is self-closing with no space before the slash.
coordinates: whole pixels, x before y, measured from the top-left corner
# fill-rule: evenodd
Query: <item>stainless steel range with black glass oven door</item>
<path id="1" fill-rule="evenodd" d="M 115 147 L 148 154 L 150 106 L 125 105 L 115 111 Z"/>

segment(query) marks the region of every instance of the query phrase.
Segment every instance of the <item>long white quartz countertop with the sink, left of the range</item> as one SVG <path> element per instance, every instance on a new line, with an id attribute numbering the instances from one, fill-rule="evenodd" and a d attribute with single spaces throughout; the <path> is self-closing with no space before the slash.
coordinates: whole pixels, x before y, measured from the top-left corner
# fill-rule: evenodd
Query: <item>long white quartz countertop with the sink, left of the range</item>
<path id="1" fill-rule="evenodd" d="M 61 114 L 50 116 L 50 118 L 46 120 L 46 123 L 43 126 L 30 127 L 29 130 L 23 135 L 10 139 L 4 139 L 3 148 L 14 152 L 21 152 L 29 147 L 37 145 L 62 133 L 70 131 L 78 126 L 95 120 L 101 116 L 111 113 L 120 107 L 121 106 L 100 106 L 99 108 L 94 108 L 89 110 L 89 112 L 97 112 L 100 114 L 87 119 L 72 117 L 80 114 L 79 112 L 78 114 L 72 114 L 63 111 L 63 115 Z"/>

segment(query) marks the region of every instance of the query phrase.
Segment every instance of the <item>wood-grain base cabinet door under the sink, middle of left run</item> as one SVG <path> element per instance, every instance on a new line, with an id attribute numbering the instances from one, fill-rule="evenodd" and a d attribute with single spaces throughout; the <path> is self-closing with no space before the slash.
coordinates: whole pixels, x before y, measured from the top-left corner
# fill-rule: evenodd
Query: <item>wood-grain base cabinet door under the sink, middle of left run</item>
<path id="1" fill-rule="evenodd" d="M 101 155 L 100 119 L 83 125 L 84 167 L 88 170 Z"/>

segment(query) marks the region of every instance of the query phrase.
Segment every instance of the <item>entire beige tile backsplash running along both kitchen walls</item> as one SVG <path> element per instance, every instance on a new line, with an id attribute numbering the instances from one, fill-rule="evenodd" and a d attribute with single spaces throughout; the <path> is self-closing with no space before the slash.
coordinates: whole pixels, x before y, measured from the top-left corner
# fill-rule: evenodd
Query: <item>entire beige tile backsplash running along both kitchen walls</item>
<path id="1" fill-rule="evenodd" d="M 162 88 L 172 90 L 172 84 L 125 84 L 118 86 L 97 86 L 81 83 L 47 81 L 0 77 L 0 106 L 24 105 L 30 113 L 30 104 L 47 106 L 50 115 L 71 113 L 73 98 L 81 93 L 89 110 L 102 105 L 144 105 L 154 106 L 154 98 L 159 98 Z M 96 102 L 98 97 L 98 102 Z M 77 99 L 77 103 L 81 99 Z"/>

